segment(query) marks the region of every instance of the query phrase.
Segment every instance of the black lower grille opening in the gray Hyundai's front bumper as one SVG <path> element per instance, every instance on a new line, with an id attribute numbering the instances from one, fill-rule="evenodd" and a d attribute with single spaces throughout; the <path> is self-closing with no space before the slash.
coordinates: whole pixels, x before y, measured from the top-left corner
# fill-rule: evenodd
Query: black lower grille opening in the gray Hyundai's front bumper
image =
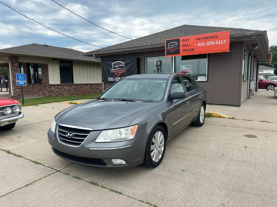
<path id="1" fill-rule="evenodd" d="M 94 158 L 85 158 L 85 157 L 74 156 L 74 155 L 66 154 L 64 152 L 56 150 L 55 148 L 53 148 L 53 150 L 57 155 L 65 158 L 65 159 L 68 159 L 68 160 L 72 160 L 72 161 L 75 161 L 75 162 L 81 162 L 81 163 L 84 163 L 84 164 L 107 166 L 107 164 L 102 159 L 94 159 Z"/>

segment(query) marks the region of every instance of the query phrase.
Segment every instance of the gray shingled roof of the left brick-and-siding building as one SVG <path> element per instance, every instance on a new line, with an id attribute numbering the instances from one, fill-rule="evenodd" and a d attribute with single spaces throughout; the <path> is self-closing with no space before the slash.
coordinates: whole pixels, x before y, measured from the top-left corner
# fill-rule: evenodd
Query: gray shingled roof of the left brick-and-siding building
<path id="1" fill-rule="evenodd" d="M 10 52 L 14 54 L 38 55 L 38 56 L 45 56 L 45 57 L 100 62 L 99 60 L 93 57 L 84 56 L 83 55 L 84 52 L 82 51 L 64 48 L 64 47 L 40 45 L 36 43 L 0 49 L 0 53 L 2 51 L 5 53 Z"/>

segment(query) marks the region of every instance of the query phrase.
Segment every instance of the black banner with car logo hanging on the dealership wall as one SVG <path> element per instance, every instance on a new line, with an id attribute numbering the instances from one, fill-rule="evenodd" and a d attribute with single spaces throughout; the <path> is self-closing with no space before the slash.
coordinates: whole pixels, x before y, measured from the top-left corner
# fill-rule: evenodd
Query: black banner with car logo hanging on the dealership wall
<path id="1" fill-rule="evenodd" d="M 139 58 L 128 58 L 120 60 L 102 60 L 102 81 L 116 82 L 121 78 L 138 74 L 139 72 Z"/>

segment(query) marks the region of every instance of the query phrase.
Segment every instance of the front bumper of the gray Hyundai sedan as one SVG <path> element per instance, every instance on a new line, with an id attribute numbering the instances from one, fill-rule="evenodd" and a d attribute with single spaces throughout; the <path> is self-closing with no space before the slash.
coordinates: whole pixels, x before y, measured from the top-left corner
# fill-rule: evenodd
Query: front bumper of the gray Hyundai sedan
<path id="1" fill-rule="evenodd" d="M 100 134 L 100 132 L 95 135 Z M 147 142 L 147 139 L 143 139 L 135 143 L 133 140 L 95 143 L 87 137 L 79 147 L 72 147 L 60 143 L 50 129 L 47 135 L 48 143 L 57 156 L 77 164 L 101 168 L 130 168 L 143 163 Z M 121 159 L 126 164 L 113 164 L 111 159 Z"/>

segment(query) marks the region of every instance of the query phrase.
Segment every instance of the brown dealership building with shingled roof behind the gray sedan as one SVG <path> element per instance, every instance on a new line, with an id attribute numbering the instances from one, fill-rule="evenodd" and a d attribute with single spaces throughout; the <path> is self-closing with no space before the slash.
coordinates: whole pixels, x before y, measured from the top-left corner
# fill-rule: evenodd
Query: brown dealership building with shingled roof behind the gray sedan
<path id="1" fill-rule="evenodd" d="M 228 51 L 166 57 L 166 39 L 223 31 L 230 32 Z M 101 58 L 105 89 L 128 74 L 185 72 L 207 89 L 208 104 L 240 106 L 258 90 L 259 62 L 268 62 L 269 45 L 266 31 L 182 25 L 85 55 Z"/>

